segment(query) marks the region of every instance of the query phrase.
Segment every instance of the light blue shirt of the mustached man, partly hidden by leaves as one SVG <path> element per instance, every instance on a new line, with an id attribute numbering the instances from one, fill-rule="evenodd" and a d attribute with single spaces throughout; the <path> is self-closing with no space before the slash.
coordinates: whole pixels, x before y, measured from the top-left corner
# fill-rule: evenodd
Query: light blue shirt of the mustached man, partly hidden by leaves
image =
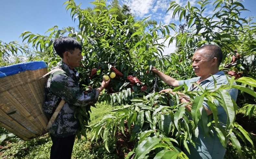
<path id="1" fill-rule="evenodd" d="M 227 76 L 224 74 L 223 71 L 220 71 L 216 74 L 213 75 L 213 77 L 215 78 L 217 85 L 216 88 L 219 88 L 221 85 L 226 85 L 228 83 L 227 80 Z M 199 85 L 201 85 L 203 87 L 203 89 L 205 89 L 206 87 L 208 89 L 214 89 L 214 80 L 213 77 L 210 76 L 209 78 L 205 79 L 204 81 L 201 81 Z M 188 86 L 188 91 L 195 91 L 195 90 L 199 90 L 199 88 L 194 85 L 192 82 L 197 82 L 201 77 L 194 77 L 188 80 L 180 80 L 178 81 L 179 85 L 183 85 L 184 83 Z M 236 83 L 233 83 L 234 85 L 236 85 Z M 237 95 L 238 95 L 238 90 L 237 89 L 230 89 L 227 90 L 229 95 L 236 101 L 237 100 Z M 216 103 L 218 104 L 218 101 L 216 100 Z M 208 104 L 206 102 L 203 103 L 203 105 L 210 109 L 210 107 L 208 107 Z M 222 122 L 224 124 L 227 124 L 227 113 L 225 112 L 224 108 L 222 106 L 219 105 L 219 107 L 217 107 L 218 110 L 218 119 L 219 122 Z M 199 130 L 199 135 L 198 138 L 195 140 L 196 144 L 196 148 L 192 145 L 192 144 L 188 144 L 189 146 L 189 150 L 190 150 L 190 154 L 186 151 L 186 149 L 184 149 L 186 155 L 190 158 L 190 159 L 197 159 L 197 158 L 205 158 L 205 159 L 221 159 L 224 158 L 226 149 L 223 147 L 223 145 L 221 144 L 216 131 L 214 131 L 214 137 L 212 137 L 210 135 L 210 138 L 208 138 L 207 136 L 204 136 L 203 130 L 201 129 L 200 126 L 198 126 L 198 130 Z M 195 139 L 195 138 L 194 138 Z"/>

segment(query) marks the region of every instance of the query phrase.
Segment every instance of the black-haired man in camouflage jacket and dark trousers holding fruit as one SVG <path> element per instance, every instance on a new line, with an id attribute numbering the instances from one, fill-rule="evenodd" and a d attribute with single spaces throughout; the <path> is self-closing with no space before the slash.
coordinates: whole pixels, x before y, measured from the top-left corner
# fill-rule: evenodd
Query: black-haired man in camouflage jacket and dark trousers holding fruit
<path id="1" fill-rule="evenodd" d="M 101 86 L 86 94 L 78 86 L 78 72 L 74 67 L 79 66 L 83 59 L 82 46 L 71 37 L 61 37 L 54 41 L 53 47 L 62 61 L 52 69 L 62 69 L 49 74 L 46 84 L 46 97 L 43 111 L 50 119 L 60 101 L 65 101 L 63 108 L 49 129 L 52 139 L 51 159 L 70 159 L 79 121 L 74 117 L 77 106 L 87 106 L 98 101 L 99 93 L 109 84 L 110 80 L 102 81 Z"/>

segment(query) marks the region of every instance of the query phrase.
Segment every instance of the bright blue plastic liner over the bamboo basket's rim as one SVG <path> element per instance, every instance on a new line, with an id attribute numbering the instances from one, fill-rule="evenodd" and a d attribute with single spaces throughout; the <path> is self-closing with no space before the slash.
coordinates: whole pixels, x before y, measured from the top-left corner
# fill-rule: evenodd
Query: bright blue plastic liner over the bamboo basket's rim
<path id="1" fill-rule="evenodd" d="M 0 67 L 0 78 L 28 70 L 38 70 L 41 68 L 47 68 L 46 63 L 43 61 L 22 62 L 10 66 Z"/>

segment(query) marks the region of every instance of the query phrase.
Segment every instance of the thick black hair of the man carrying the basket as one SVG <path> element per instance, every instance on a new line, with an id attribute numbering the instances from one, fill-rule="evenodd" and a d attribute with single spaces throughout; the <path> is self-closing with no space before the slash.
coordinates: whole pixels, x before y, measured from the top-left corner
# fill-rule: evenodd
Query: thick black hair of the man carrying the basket
<path id="1" fill-rule="evenodd" d="M 76 49 L 82 51 L 81 44 L 72 37 L 60 37 L 54 40 L 53 48 L 62 59 L 65 51 L 69 51 L 70 53 L 73 53 Z"/>

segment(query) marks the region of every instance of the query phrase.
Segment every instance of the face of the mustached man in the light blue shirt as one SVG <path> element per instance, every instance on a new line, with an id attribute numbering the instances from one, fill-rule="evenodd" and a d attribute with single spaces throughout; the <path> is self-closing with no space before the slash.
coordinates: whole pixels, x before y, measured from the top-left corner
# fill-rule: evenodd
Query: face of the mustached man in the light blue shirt
<path id="1" fill-rule="evenodd" d="M 206 51 L 205 49 L 200 50 L 200 51 L 195 51 L 193 58 L 192 58 L 192 67 L 194 69 L 195 75 L 200 76 L 200 77 L 204 77 L 207 76 L 209 74 L 211 74 L 211 72 L 213 71 L 212 69 L 212 61 L 207 61 L 207 59 L 202 56 L 203 54 L 205 54 Z"/>

